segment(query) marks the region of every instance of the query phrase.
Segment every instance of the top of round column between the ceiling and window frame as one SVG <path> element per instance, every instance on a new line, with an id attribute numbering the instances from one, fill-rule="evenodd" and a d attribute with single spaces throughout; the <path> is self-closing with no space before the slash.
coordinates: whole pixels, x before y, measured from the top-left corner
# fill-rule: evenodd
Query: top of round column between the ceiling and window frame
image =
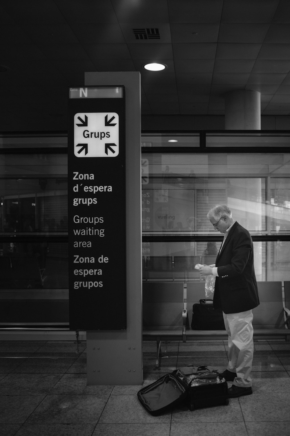
<path id="1" fill-rule="evenodd" d="M 261 93 L 237 89 L 225 94 L 226 130 L 261 130 Z"/>

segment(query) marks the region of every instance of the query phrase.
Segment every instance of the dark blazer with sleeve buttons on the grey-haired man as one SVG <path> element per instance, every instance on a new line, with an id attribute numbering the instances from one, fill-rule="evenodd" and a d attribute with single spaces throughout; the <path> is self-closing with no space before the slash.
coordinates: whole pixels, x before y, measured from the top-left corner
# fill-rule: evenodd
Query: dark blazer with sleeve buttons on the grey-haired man
<path id="1" fill-rule="evenodd" d="M 239 313 L 259 305 L 254 270 L 253 241 L 250 233 L 233 224 L 216 257 L 216 277 L 213 304 L 224 313 Z"/>

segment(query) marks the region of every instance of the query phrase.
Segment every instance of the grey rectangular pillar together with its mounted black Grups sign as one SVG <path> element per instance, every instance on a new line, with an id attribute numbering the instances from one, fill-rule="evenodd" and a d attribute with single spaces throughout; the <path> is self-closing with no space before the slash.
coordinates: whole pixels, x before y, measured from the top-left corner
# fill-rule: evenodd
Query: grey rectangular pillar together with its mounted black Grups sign
<path id="1" fill-rule="evenodd" d="M 88 385 L 141 385 L 140 73 L 84 78 L 69 98 L 70 328 L 86 330 Z"/>

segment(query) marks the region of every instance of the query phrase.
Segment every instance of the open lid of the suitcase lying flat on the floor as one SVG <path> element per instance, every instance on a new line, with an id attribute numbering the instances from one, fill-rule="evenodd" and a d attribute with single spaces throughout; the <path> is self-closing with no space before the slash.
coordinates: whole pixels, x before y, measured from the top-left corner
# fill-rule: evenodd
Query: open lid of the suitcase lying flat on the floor
<path id="1" fill-rule="evenodd" d="M 142 406 L 153 416 L 161 415 L 172 407 L 185 402 L 188 385 L 182 374 L 176 370 L 165 374 L 138 393 Z"/>

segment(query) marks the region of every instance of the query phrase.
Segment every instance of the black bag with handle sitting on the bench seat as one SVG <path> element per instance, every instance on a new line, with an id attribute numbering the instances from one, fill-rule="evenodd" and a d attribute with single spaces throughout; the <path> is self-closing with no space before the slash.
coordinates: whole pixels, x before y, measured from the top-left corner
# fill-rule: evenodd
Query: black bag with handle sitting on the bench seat
<path id="1" fill-rule="evenodd" d="M 199 300 L 199 303 L 192 306 L 191 328 L 192 330 L 226 330 L 223 311 L 214 309 L 212 300 Z"/>

